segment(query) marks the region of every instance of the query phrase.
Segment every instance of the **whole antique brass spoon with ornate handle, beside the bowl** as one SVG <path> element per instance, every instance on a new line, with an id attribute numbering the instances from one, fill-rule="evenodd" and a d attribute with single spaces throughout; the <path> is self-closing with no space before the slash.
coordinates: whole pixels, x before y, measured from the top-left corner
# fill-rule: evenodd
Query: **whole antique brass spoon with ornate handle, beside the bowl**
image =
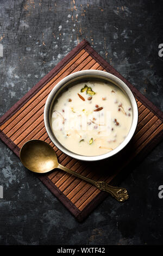
<path id="1" fill-rule="evenodd" d="M 126 188 L 113 187 L 108 185 L 105 181 L 95 181 L 80 175 L 73 170 L 70 170 L 60 163 L 58 163 L 57 155 L 55 151 L 48 143 L 40 141 L 39 139 L 33 139 L 26 142 L 20 151 L 20 159 L 22 164 L 29 170 L 35 173 L 47 173 L 55 168 L 65 170 L 65 172 L 70 173 L 78 178 L 90 182 L 99 188 L 109 192 L 115 199 L 119 202 L 123 202 L 128 199 L 128 193 Z"/>

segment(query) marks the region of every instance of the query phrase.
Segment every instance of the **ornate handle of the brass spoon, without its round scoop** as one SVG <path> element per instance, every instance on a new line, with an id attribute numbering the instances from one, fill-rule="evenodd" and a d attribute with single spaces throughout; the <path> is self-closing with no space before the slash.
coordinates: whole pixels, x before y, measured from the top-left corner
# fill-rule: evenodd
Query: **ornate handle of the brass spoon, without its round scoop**
<path id="1" fill-rule="evenodd" d="M 95 181 L 95 180 L 89 179 L 83 175 L 80 175 L 79 173 L 73 172 L 73 170 L 70 170 L 70 169 L 66 168 L 65 166 L 62 166 L 60 163 L 58 164 L 58 168 L 65 170 L 65 172 L 70 173 L 74 176 L 77 176 L 78 178 L 80 178 L 82 180 L 85 180 L 85 181 L 93 184 L 94 186 L 98 187 L 99 190 L 103 190 L 103 191 L 110 193 L 111 196 L 115 197 L 115 199 L 118 202 L 124 202 L 125 200 L 127 200 L 129 198 L 126 188 L 113 187 L 111 185 L 108 185 L 105 181 Z"/>

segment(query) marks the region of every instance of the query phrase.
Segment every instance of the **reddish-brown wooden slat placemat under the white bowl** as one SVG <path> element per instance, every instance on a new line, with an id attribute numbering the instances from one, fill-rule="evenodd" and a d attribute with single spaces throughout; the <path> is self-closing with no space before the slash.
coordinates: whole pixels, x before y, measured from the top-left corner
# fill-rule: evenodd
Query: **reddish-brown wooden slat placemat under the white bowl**
<path id="1" fill-rule="evenodd" d="M 45 102 L 55 84 L 73 72 L 86 69 L 104 70 L 119 77 L 132 90 L 139 107 L 139 123 L 131 142 L 117 156 L 96 164 L 72 159 L 58 150 L 49 139 L 43 122 Z M 89 42 L 83 40 L 1 117 L 0 138 L 17 156 L 26 141 L 41 139 L 52 145 L 62 165 L 88 178 L 111 182 L 118 174 L 123 176 L 129 164 L 141 160 L 161 141 L 162 120 L 162 112 L 99 56 Z M 78 221 L 84 220 L 108 196 L 108 193 L 59 169 L 38 175 L 38 178 Z"/>

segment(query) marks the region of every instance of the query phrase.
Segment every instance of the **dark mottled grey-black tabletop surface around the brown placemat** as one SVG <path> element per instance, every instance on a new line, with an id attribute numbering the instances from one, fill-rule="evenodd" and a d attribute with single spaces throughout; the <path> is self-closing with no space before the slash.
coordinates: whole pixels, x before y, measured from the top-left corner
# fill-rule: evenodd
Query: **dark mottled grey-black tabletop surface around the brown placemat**
<path id="1" fill-rule="evenodd" d="M 161 1 L 1 0 L 0 114 L 3 115 L 82 39 L 163 110 Z M 162 243 L 162 144 L 122 181 L 130 199 L 110 196 L 83 222 L 2 143 L 1 245 Z"/>

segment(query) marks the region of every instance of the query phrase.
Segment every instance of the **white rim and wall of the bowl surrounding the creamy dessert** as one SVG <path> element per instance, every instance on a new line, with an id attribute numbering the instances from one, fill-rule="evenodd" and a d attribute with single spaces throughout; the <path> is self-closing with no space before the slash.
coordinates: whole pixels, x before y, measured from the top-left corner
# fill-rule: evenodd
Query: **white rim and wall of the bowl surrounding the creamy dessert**
<path id="1" fill-rule="evenodd" d="M 52 105 L 52 100 L 55 96 L 55 94 L 58 92 L 58 90 L 64 86 L 65 83 L 71 83 L 73 79 L 82 79 L 83 76 L 88 76 L 88 77 L 101 77 L 105 80 L 111 80 L 114 84 L 117 84 L 118 86 L 120 86 L 121 89 L 123 89 L 127 96 L 129 97 L 129 100 L 131 102 L 131 106 L 132 106 L 132 111 L 133 111 L 133 121 L 130 127 L 130 131 L 127 135 L 127 137 L 124 139 L 124 141 L 118 145 L 117 148 L 115 148 L 114 150 L 102 154 L 102 155 L 96 155 L 96 156 L 84 156 L 84 155 L 79 155 L 77 153 L 73 153 L 72 151 L 68 150 L 67 148 L 65 148 L 57 139 L 55 139 L 54 134 L 52 132 L 51 129 L 51 124 L 49 123 L 49 109 Z M 88 78 L 87 77 L 87 78 Z M 86 78 L 86 77 L 84 77 Z M 59 81 L 54 88 L 51 90 L 51 92 L 49 93 L 46 103 L 45 103 L 45 108 L 44 108 L 44 112 L 43 112 L 43 117 L 44 117 L 44 123 L 45 123 L 45 127 L 46 127 L 46 131 L 47 134 L 49 136 L 49 138 L 51 139 L 51 141 L 54 143 L 54 145 L 60 149 L 63 153 L 65 153 L 68 156 L 73 157 L 74 159 L 77 160 L 82 160 L 82 161 L 98 161 L 98 160 L 103 160 L 103 159 L 107 159 L 108 157 L 114 156 L 116 155 L 118 152 L 120 152 L 124 147 L 126 147 L 126 145 L 129 143 L 129 141 L 131 140 L 131 138 L 134 135 L 134 132 L 136 130 L 136 126 L 137 126 L 137 121 L 138 121 L 138 108 L 137 108 L 137 103 L 135 100 L 135 97 L 133 95 L 133 93 L 131 92 L 130 88 L 127 86 L 126 83 L 124 83 L 120 78 L 116 77 L 115 75 L 110 74 L 109 72 L 105 72 L 102 70 L 82 70 L 82 71 L 77 71 L 74 72 L 73 74 L 70 74 L 64 78 L 62 78 L 61 81 Z"/>

